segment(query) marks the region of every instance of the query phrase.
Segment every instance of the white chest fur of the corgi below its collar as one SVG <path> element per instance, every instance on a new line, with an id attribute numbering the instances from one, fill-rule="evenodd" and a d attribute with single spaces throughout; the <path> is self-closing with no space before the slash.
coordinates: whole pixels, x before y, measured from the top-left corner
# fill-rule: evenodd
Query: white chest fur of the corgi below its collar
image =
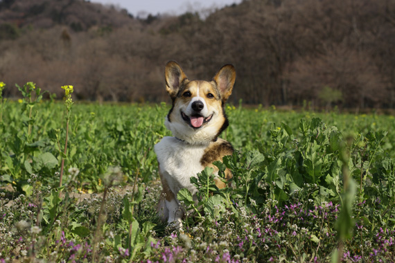
<path id="1" fill-rule="evenodd" d="M 155 145 L 160 172 L 166 176 L 168 186 L 176 196 L 182 188 L 195 194 L 196 188 L 190 183 L 190 179 L 204 169 L 200 160 L 206 147 L 207 145 L 190 145 L 169 136 Z"/>

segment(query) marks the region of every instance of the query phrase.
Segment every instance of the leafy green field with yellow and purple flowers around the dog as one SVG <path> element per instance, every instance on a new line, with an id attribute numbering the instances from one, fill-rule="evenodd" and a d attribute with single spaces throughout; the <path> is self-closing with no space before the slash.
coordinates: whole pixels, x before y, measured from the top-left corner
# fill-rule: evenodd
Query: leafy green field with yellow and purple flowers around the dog
<path id="1" fill-rule="evenodd" d="M 0 96 L 0 262 L 394 262 L 394 116 L 227 105 L 231 187 L 206 168 L 175 229 L 155 212 L 170 105 L 18 88 Z"/>

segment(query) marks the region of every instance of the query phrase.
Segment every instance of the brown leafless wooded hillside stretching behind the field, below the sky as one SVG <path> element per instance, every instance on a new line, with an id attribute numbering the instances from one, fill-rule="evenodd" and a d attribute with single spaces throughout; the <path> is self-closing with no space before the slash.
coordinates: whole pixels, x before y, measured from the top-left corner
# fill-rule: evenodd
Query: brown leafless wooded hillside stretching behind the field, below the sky
<path id="1" fill-rule="evenodd" d="M 249 0 L 202 19 L 134 18 L 81 0 L 0 1 L 0 81 L 76 99 L 168 100 L 164 66 L 191 79 L 236 66 L 231 102 L 395 107 L 395 1 Z"/>

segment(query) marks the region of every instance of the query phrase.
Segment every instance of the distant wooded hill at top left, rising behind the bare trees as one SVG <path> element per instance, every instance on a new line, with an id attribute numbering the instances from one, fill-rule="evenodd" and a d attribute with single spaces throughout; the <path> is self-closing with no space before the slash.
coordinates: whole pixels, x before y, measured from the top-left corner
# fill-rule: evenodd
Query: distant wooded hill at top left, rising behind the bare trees
<path id="1" fill-rule="evenodd" d="M 0 2 L 0 23 L 18 28 L 69 26 L 74 31 L 92 26 L 121 27 L 132 22 L 127 10 L 82 0 L 6 0 Z"/>

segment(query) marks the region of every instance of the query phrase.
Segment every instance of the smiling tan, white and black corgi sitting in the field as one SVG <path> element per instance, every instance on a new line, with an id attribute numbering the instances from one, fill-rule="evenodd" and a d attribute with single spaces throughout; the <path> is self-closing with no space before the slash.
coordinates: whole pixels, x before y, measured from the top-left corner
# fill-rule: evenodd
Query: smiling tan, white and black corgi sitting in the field
<path id="1" fill-rule="evenodd" d="M 218 172 L 213 161 L 222 161 L 223 156 L 234 152 L 231 144 L 218 136 L 229 125 L 224 105 L 234 87 L 236 71 L 226 64 L 211 81 L 188 80 L 181 66 L 170 61 L 165 80 L 173 102 L 165 126 L 173 137 L 166 136 L 155 145 L 163 187 L 158 212 L 163 221 L 181 226 L 184 211 L 179 207 L 178 191 L 187 188 L 197 202 L 198 190 L 191 184 L 191 177 L 207 166 Z M 228 169 L 225 178 L 231 178 Z M 216 185 L 225 188 L 226 183 L 216 178 Z"/>

